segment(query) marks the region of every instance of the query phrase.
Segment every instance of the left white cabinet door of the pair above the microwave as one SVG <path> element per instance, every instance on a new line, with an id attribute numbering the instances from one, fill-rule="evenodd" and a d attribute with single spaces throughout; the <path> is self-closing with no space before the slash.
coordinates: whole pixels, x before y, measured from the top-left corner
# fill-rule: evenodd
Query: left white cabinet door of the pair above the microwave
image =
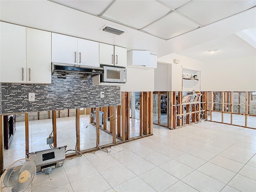
<path id="1" fill-rule="evenodd" d="M 100 43 L 100 64 L 114 65 L 114 46 Z"/>

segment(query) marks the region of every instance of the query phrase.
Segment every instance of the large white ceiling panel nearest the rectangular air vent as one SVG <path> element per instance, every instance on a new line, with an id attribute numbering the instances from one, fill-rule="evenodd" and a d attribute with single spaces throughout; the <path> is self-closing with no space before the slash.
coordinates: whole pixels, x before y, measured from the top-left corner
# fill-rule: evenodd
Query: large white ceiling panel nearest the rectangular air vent
<path id="1" fill-rule="evenodd" d="M 102 17 L 141 29 L 170 11 L 169 8 L 154 0 L 119 0 L 114 2 Z"/>

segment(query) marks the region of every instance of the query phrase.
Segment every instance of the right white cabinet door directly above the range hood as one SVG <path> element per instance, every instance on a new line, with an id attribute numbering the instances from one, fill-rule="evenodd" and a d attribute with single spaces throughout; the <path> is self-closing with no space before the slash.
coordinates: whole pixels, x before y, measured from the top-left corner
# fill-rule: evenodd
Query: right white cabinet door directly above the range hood
<path id="1" fill-rule="evenodd" d="M 78 65 L 100 67 L 99 43 L 78 38 Z"/>

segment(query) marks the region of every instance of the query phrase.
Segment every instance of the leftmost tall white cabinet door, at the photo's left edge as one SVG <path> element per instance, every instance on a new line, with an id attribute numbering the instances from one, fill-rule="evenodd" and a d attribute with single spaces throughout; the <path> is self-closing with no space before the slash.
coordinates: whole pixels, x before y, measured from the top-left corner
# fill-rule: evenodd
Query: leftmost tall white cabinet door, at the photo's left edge
<path id="1" fill-rule="evenodd" d="M 26 82 L 26 28 L 0 22 L 0 82 Z"/>

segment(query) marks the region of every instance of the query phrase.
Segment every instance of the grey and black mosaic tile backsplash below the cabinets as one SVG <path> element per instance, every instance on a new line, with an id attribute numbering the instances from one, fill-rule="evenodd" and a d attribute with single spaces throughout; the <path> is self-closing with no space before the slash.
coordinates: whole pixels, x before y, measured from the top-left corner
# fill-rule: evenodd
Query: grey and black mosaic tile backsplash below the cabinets
<path id="1" fill-rule="evenodd" d="M 28 93 L 35 93 L 34 102 Z M 2 83 L 0 94 L 0 114 L 120 105 L 120 86 L 93 86 L 91 77 L 52 75 L 48 85 Z"/>

